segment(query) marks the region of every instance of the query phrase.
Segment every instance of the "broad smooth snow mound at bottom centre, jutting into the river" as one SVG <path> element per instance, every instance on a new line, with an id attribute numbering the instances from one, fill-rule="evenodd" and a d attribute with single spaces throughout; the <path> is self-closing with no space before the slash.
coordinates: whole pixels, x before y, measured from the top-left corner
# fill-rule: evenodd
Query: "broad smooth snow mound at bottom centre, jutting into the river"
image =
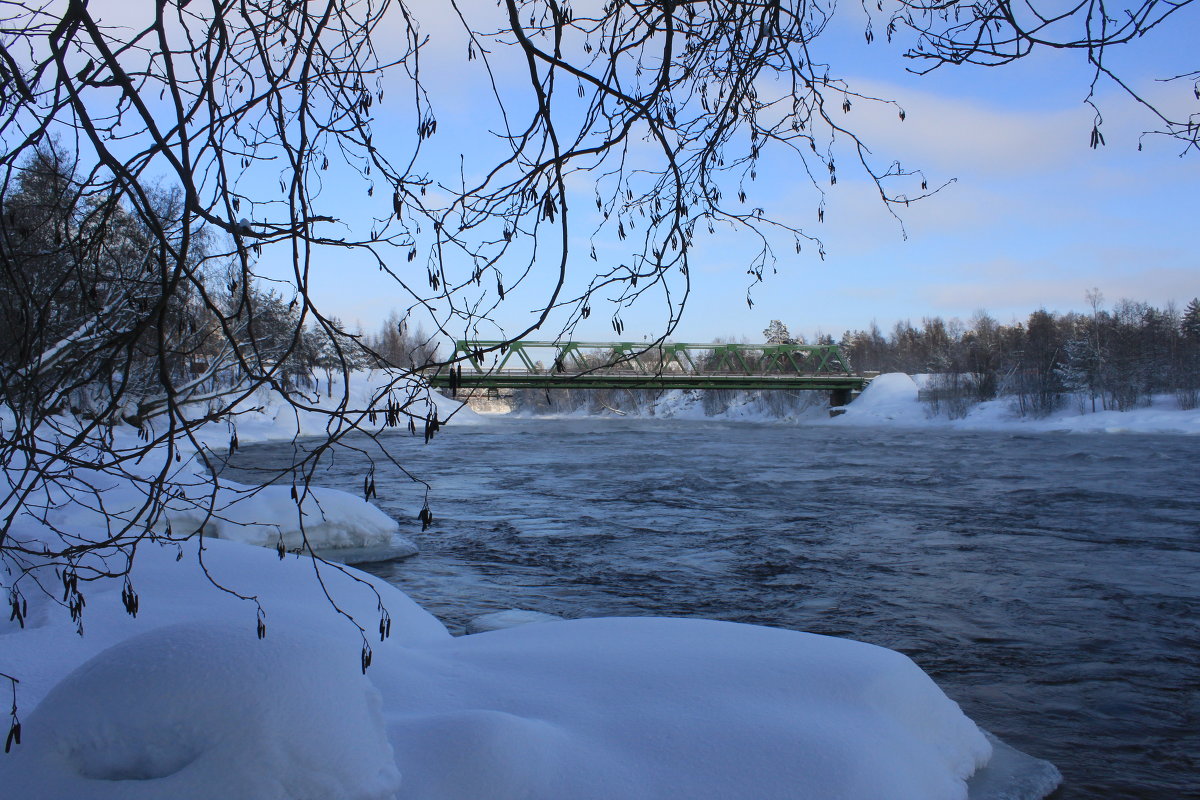
<path id="1" fill-rule="evenodd" d="M 991 745 L 906 656 L 692 619 L 522 625 L 373 678 L 403 796 L 964 800 Z"/>

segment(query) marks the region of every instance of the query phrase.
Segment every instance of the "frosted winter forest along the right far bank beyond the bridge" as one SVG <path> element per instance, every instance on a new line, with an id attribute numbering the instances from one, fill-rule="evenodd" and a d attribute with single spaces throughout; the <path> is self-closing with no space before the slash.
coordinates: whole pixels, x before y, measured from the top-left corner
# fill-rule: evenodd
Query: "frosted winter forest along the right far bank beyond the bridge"
<path id="1" fill-rule="evenodd" d="M 932 373 L 925 397 L 952 417 L 1001 396 L 1036 416 L 1068 403 L 1124 411 L 1159 393 L 1182 409 L 1200 404 L 1200 299 L 1182 311 L 1133 300 L 1102 308 L 1099 293 L 1088 301 L 1090 313 L 1038 309 L 1008 325 L 985 312 L 901 321 L 888 333 L 872 324 L 840 344 L 857 371 Z"/>

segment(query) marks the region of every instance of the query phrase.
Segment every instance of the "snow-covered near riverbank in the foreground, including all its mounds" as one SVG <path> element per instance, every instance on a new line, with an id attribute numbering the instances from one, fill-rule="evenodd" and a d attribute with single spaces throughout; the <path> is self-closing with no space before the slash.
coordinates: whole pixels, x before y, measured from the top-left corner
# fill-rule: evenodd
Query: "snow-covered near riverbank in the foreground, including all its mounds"
<path id="1" fill-rule="evenodd" d="M 874 395 L 862 408 L 887 405 Z M 270 413 L 241 417 L 241 441 L 294 434 Z M 350 495 L 316 500 L 310 541 L 386 528 Z M 0 756 L 5 796 L 1020 800 L 1058 781 L 892 650 L 656 618 L 454 638 L 371 576 L 247 543 L 298 528 L 290 494 L 240 503 L 205 523 L 217 537 L 139 546 L 136 618 L 102 581 L 84 587 L 83 636 L 37 591 L 24 627 L 0 622 L 23 723 Z M 73 535 L 106 531 L 97 512 L 61 511 Z"/>

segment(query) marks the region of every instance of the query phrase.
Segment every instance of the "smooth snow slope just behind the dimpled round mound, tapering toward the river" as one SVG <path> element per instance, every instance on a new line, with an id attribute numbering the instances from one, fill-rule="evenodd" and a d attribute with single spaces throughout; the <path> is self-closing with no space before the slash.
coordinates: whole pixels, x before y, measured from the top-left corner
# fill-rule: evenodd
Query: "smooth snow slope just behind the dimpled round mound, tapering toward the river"
<path id="1" fill-rule="evenodd" d="M 176 560 L 180 553 L 182 558 Z M 198 558 L 204 559 L 206 573 L 199 569 Z M 41 572 L 47 571 L 31 577 L 54 585 L 53 572 Z M 203 543 L 192 540 L 182 551 L 172 545 L 144 542 L 130 577 L 140 606 L 136 618 L 125 612 L 120 582 L 97 582 L 83 588 L 88 601 L 85 636 L 76 634 L 74 624 L 54 602 L 56 599 L 26 590 L 30 616 L 25 628 L 16 624 L 0 627 L 0 672 L 20 678 L 22 709 L 31 709 L 89 658 L 155 628 L 178 624 L 233 625 L 253 639 L 257 607 L 230 593 L 258 599 L 268 640 L 288 632 L 336 639 L 336 646 L 349 658 L 348 678 L 361 672 L 358 658 L 362 645 L 358 631 L 340 609 L 360 620 L 368 632 L 378 624 L 379 607 L 388 610 L 391 637 L 384 643 L 372 637 L 377 664 L 402 657 L 407 646 L 450 638 L 437 618 L 391 584 L 352 567 L 320 564 L 307 555 L 280 560 L 270 549 L 208 537 Z M 336 608 L 325 590 L 337 599 Z M 25 720 L 26 742 L 37 735 L 29 722 Z M 0 758 L 0 772 L 4 769 L 5 759 Z M 0 777 L 0 787 L 4 784 Z M 2 788 L 0 796 L 7 800 Z"/>

